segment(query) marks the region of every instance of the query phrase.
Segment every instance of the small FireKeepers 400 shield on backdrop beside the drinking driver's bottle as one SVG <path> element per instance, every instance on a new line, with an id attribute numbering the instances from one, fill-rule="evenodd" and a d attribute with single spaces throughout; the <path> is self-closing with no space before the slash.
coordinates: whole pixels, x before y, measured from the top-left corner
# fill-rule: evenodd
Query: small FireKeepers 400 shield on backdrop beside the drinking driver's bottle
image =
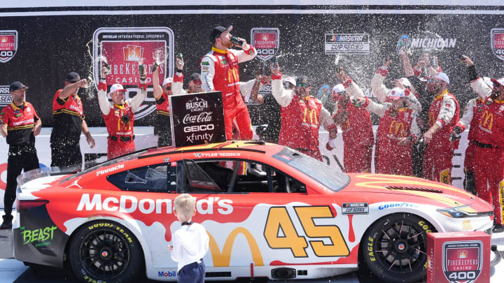
<path id="1" fill-rule="evenodd" d="M 280 30 L 254 27 L 251 29 L 251 44 L 257 50 L 259 59 L 271 59 L 279 50 Z"/>

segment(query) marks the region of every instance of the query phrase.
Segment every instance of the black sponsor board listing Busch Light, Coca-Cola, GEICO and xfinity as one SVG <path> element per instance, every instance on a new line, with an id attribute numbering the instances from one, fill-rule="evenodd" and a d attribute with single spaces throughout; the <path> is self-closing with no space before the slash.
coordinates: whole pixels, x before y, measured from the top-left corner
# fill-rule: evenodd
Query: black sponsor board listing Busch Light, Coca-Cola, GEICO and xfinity
<path id="1" fill-rule="evenodd" d="M 172 136 L 176 147 L 225 141 L 221 92 L 171 95 Z"/>

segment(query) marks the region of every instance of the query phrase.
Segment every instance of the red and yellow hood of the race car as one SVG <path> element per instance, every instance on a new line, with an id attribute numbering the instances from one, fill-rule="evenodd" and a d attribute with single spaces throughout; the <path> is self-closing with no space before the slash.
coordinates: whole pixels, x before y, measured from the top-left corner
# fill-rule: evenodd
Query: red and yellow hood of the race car
<path id="1" fill-rule="evenodd" d="M 467 212 L 492 211 L 489 203 L 463 189 L 417 177 L 383 174 L 348 174 L 350 184 L 342 191 L 375 196 L 381 200 L 402 199 L 444 208 L 470 205 Z"/>

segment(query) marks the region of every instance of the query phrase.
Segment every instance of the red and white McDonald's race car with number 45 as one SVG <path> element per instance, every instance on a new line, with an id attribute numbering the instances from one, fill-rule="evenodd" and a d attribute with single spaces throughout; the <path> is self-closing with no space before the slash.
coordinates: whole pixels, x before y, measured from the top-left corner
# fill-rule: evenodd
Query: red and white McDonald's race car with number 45
<path id="1" fill-rule="evenodd" d="M 246 173 L 247 166 L 259 170 Z M 15 259 L 82 282 L 176 281 L 173 201 L 196 198 L 207 280 L 311 279 L 367 266 L 385 282 L 426 275 L 427 233 L 491 233 L 489 203 L 415 177 L 344 174 L 260 141 L 163 147 L 80 173 L 18 177 Z"/>

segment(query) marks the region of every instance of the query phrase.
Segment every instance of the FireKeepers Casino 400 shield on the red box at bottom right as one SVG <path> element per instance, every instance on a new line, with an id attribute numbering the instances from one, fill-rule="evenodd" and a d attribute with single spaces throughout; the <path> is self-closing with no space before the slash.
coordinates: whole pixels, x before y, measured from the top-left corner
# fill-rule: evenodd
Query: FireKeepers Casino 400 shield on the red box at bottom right
<path id="1" fill-rule="evenodd" d="M 472 283 L 482 271 L 483 243 L 477 240 L 444 242 L 443 273 L 451 283 Z"/>

